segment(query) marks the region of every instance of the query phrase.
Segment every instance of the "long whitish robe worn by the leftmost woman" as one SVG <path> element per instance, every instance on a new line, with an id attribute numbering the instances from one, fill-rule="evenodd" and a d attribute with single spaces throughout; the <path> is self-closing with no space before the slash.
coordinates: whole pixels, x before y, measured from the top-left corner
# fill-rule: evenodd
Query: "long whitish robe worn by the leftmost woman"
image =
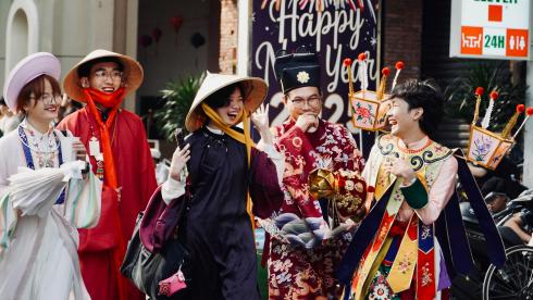
<path id="1" fill-rule="evenodd" d="M 29 128 L 25 122 L 20 126 Z M 85 163 L 66 161 L 59 168 L 55 135 L 33 130 L 34 140 L 28 136 L 28 143 L 35 171 L 26 168 L 18 128 L 0 138 L 0 299 L 90 299 L 79 273 L 76 228 L 98 223 L 101 183 L 91 172 L 85 179 L 63 182 L 72 175 L 71 168 Z M 62 142 L 66 140 L 59 130 L 55 134 Z M 53 168 L 39 166 L 36 147 L 57 151 Z M 26 185 L 38 192 L 17 193 L 13 175 L 33 178 L 35 183 Z M 60 179 L 52 180 L 53 176 Z M 64 202 L 55 204 L 53 192 L 63 187 Z"/>

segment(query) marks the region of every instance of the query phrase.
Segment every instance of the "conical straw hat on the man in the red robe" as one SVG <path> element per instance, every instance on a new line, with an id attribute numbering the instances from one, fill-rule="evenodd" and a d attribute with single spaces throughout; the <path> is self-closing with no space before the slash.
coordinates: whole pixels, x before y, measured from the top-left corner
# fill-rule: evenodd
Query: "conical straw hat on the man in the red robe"
<path id="1" fill-rule="evenodd" d="M 128 96 L 129 93 L 134 92 L 136 89 L 139 88 L 140 84 L 142 83 L 144 72 L 142 72 L 142 67 L 136 60 L 132 59 L 128 55 L 123 55 L 108 50 L 98 49 L 87 54 L 87 57 L 85 57 L 80 62 L 78 62 L 66 74 L 65 79 L 63 80 L 63 89 L 65 90 L 66 95 L 69 95 L 70 98 L 79 102 L 87 102 L 83 91 L 84 88 L 82 87 L 82 83 L 79 82 L 77 70 L 84 63 L 100 58 L 117 58 L 124 65 L 124 80 L 126 83 L 124 87 L 125 88 L 124 97 Z"/>

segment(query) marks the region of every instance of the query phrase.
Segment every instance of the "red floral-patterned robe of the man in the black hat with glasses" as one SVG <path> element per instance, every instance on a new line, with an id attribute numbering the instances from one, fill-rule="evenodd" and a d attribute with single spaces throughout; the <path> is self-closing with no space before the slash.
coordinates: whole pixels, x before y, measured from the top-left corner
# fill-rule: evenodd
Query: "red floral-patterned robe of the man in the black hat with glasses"
<path id="1" fill-rule="evenodd" d="M 317 167 L 360 172 L 364 160 L 351 134 L 338 124 L 321 120 L 317 132 L 303 133 L 289 120 L 273 134 L 285 155 L 285 201 L 275 217 L 262 222 L 271 236 L 270 299 L 338 296 L 333 273 L 351 235 L 345 224 L 330 227 L 320 202 L 309 193 L 308 175 Z"/>

